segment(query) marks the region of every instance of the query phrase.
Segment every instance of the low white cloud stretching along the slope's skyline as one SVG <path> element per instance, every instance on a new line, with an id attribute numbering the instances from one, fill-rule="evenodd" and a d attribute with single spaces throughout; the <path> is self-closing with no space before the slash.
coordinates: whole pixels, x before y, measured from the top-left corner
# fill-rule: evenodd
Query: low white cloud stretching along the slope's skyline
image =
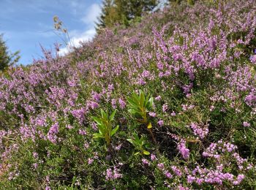
<path id="1" fill-rule="evenodd" d="M 70 42 L 68 42 L 67 47 L 63 47 L 59 50 L 59 55 L 64 56 L 69 53 L 69 50 L 72 47 L 79 47 L 80 42 L 88 42 L 90 39 L 93 39 L 94 35 L 96 34 L 95 28 L 91 28 L 83 33 L 79 33 L 78 31 L 70 31 Z"/>

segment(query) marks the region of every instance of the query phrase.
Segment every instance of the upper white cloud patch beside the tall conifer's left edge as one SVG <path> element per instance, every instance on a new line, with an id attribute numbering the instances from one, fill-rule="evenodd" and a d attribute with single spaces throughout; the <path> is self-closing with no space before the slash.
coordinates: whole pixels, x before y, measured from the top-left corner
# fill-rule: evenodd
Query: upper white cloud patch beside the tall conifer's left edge
<path id="1" fill-rule="evenodd" d="M 86 15 L 81 19 L 83 23 L 94 24 L 97 21 L 97 17 L 100 15 L 101 7 L 99 4 L 91 4 L 86 11 Z"/>

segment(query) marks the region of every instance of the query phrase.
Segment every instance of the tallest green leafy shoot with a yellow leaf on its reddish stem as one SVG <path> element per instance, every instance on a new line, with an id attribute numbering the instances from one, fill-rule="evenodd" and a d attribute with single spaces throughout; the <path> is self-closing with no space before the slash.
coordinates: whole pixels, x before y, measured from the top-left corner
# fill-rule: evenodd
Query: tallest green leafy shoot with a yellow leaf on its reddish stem
<path id="1" fill-rule="evenodd" d="M 148 95 L 145 96 L 145 93 L 140 90 L 139 94 L 135 92 L 132 94 L 131 98 L 127 98 L 129 102 L 129 113 L 135 115 L 137 121 L 147 126 L 148 132 L 150 132 L 152 139 L 156 142 L 154 134 L 152 132 L 152 124 L 148 121 L 147 113 L 151 110 L 153 105 L 153 97 Z"/>

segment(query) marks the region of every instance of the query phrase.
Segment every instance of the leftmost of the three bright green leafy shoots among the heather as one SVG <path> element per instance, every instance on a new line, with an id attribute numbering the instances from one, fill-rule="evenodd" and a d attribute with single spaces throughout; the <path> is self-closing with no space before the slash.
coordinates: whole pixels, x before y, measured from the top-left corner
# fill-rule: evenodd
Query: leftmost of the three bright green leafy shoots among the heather
<path id="1" fill-rule="evenodd" d="M 100 109 L 100 115 L 98 117 L 91 117 L 97 123 L 99 132 L 94 133 L 94 138 L 105 139 L 108 148 L 110 148 L 111 137 L 116 134 L 118 127 L 112 128 L 112 121 L 116 115 L 116 110 L 113 111 L 110 115 L 104 110 Z"/>

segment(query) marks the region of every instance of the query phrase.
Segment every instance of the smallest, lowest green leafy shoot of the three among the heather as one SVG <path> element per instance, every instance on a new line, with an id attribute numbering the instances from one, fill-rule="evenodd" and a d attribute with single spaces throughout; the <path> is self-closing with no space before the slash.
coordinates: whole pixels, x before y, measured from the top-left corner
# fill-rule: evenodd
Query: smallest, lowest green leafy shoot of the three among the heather
<path id="1" fill-rule="evenodd" d="M 148 151 L 146 151 L 146 148 L 148 146 L 148 144 L 146 143 L 146 139 L 145 137 L 138 137 L 138 134 L 133 133 L 133 138 L 132 139 L 127 139 L 129 142 L 132 143 L 132 145 L 135 146 L 135 150 L 137 150 L 137 152 L 135 153 L 135 155 L 140 154 L 145 154 L 145 155 L 149 155 L 150 153 Z"/>

